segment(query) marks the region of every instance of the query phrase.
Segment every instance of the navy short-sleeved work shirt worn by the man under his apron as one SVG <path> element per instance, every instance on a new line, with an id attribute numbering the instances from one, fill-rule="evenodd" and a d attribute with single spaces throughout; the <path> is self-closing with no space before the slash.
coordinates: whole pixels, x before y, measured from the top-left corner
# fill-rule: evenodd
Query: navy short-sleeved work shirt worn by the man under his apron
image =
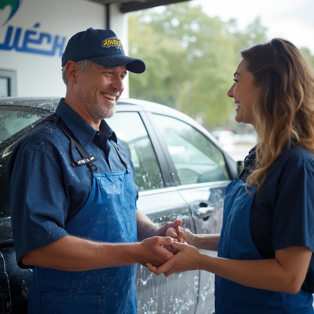
<path id="1" fill-rule="evenodd" d="M 52 117 L 59 115 L 69 133 L 97 160 L 98 172 L 125 170 L 110 139 L 120 148 L 123 159 L 133 163 L 127 149 L 105 120 L 100 131 L 84 121 L 62 98 Z M 74 159 L 82 158 L 73 150 Z M 16 260 L 29 251 L 68 235 L 64 229 L 89 198 L 93 176 L 88 165 L 73 167 L 70 140 L 54 122 L 35 126 L 15 147 L 7 166 L 10 207 Z M 138 198 L 138 188 L 134 186 Z"/>

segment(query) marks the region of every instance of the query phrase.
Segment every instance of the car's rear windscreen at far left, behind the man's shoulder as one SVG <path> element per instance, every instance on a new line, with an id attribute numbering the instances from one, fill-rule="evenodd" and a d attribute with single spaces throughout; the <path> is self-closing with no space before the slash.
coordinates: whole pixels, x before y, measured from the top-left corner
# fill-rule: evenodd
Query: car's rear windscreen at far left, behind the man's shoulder
<path id="1" fill-rule="evenodd" d="M 42 116 L 38 112 L 22 107 L 0 106 L 0 143 Z"/>

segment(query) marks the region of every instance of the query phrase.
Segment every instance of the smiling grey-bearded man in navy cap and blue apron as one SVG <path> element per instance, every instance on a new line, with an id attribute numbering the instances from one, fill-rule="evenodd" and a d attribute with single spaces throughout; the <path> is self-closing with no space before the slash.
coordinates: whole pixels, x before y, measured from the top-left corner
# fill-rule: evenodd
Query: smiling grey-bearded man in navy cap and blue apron
<path id="1" fill-rule="evenodd" d="M 29 313 L 136 313 L 136 263 L 172 257 L 165 231 L 181 220 L 157 227 L 135 210 L 132 161 L 103 120 L 127 70 L 145 64 L 125 56 L 111 30 L 75 34 L 62 56 L 65 99 L 12 153 L 16 259 L 35 266 Z"/>

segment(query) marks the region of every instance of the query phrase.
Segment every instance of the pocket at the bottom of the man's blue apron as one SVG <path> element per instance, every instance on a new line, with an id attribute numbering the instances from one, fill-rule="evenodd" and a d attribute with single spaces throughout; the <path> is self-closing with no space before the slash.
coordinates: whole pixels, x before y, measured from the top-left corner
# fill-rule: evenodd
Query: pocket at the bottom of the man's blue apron
<path id="1" fill-rule="evenodd" d="M 83 293 L 42 293 L 41 314 L 105 314 L 102 295 Z"/>

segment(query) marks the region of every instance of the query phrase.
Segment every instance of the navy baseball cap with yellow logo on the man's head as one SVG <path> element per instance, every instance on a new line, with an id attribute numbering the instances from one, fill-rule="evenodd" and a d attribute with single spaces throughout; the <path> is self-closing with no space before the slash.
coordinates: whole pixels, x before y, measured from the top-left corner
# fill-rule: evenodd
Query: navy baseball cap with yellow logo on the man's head
<path id="1" fill-rule="evenodd" d="M 69 60 L 89 59 L 107 68 L 127 65 L 127 70 L 143 73 L 145 63 L 124 54 L 121 40 L 112 30 L 94 30 L 89 28 L 73 35 L 62 55 L 62 68 Z"/>

